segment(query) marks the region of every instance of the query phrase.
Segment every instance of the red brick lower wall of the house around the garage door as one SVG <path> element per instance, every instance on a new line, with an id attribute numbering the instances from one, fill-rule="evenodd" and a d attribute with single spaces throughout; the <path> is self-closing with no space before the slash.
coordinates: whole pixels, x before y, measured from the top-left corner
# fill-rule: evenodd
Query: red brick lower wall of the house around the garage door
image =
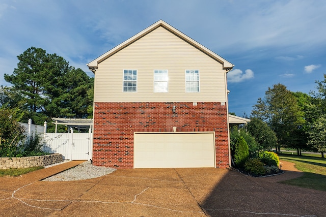
<path id="1" fill-rule="evenodd" d="M 133 168 L 134 132 L 215 132 L 216 167 L 229 167 L 226 105 L 221 103 L 95 103 L 93 164 Z M 172 108 L 176 107 L 173 114 Z"/>

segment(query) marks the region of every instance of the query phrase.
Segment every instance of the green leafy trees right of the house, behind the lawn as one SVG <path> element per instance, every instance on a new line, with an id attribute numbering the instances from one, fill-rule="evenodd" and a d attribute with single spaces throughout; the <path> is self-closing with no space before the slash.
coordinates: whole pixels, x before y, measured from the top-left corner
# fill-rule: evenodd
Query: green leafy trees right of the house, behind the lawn
<path id="1" fill-rule="evenodd" d="M 324 158 L 326 75 L 323 77 L 324 80 L 316 81 L 317 91 L 311 91 L 310 95 L 292 92 L 281 83 L 268 87 L 264 98 L 258 98 L 257 104 L 253 106 L 250 118 L 254 122 L 249 125 L 249 131 L 253 131 L 252 125 L 257 125 L 257 122 L 266 123 L 275 133 L 276 141 L 273 143 L 277 152 L 281 147 L 294 148 L 298 155 L 301 155 L 302 150 L 315 151 Z M 259 139 L 259 136 L 255 138 Z"/>

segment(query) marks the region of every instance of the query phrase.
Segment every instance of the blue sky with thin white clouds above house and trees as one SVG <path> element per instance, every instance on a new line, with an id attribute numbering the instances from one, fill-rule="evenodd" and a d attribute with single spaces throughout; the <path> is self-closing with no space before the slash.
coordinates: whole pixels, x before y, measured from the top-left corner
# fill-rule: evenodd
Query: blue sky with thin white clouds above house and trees
<path id="1" fill-rule="evenodd" d="M 268 87 L 315 90 L 326 67 L 321 0 L 2 0 L 0 85 L 29 47 L 86 64 L 162 19 L 230 61 L 229 111 L 250 115 Z"/>

